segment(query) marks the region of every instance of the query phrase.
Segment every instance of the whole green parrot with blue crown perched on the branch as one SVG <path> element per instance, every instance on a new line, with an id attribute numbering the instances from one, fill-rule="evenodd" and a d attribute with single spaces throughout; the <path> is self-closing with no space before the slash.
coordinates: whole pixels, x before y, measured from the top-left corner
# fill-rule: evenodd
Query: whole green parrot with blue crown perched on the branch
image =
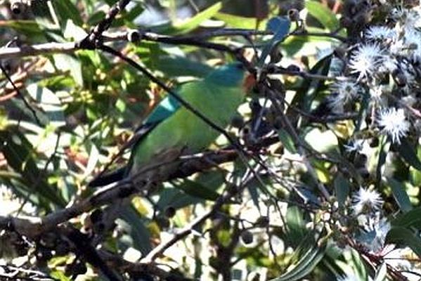
<path id="1" fill-rule="evenodd" d="M 205 79 L 183 84 L 177 93 L 214 124 L 225 128 L 243 102 L 252 79 L 239 63 L 224 65 Z M 219 136 L 200 117 L 168 95 L 144 120 L 127 166 L 95 178 L 90 186 L 103 186 L 134 176 L 148 165 L 205 150 Z"/>

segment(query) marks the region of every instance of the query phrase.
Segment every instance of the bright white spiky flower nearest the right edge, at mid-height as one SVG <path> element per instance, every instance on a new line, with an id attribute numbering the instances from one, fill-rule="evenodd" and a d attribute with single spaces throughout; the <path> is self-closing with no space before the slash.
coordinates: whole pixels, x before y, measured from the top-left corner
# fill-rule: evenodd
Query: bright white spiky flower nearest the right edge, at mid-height
<path id="1" fill-rule="evenodd" d="M 377 124 L 383 133 L 391 137 L 393 143 L 401 143 L 401 138 L 406 136 L 410 128 L 410 123 L 406 120 L 405 112 L 402 108 L 385 108 L 380 111 Z"/>

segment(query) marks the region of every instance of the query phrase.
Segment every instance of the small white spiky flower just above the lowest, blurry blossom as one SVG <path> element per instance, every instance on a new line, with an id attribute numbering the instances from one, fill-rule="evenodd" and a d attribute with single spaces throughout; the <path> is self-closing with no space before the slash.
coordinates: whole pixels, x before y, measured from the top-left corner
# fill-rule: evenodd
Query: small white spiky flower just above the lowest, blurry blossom
<path id="1" fill-rule="evenodd" d="M 352 196 L 352 209 L 355 214 L 377 211 L 382 207 L 383 200 L 376 190 L 360 188 Z"/>

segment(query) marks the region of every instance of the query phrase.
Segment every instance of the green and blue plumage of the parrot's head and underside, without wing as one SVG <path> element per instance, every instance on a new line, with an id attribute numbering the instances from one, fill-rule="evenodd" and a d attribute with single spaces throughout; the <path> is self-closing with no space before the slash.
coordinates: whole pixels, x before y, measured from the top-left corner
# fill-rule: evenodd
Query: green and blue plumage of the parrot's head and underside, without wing
<path id="1" fill-rule="evenodd" d="M 230 124 L 244 99 L 244 78 L 245 70 L 240 65 L 226 65 L 214 70 L 203 80 L 184 84 L 178 93 L 214 124 L 224 128 Z M 219 132 L 200 117 L 185 107 L 179 107 L 136 145 L 129 162 L 130 174 L 168 150 L 186 148 L 188 152 L 200 152 L 217 136 Z"/>

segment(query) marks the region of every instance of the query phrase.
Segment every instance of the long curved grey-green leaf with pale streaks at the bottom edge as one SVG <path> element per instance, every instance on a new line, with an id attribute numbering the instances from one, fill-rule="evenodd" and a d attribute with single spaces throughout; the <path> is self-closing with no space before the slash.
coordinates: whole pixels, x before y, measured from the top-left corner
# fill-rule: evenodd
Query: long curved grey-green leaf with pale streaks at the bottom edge
<path id="1" fill-rule="evenodd" d="M 294 253 L 299 253 L 299 259 L 295 263 L 292 270 L 287 271 L 287 273 L 280 275 L 271 281 L 294 281 L 302 280 L 306 275 L 311 273 L 311 271 L 317 266 L 319 261 L 323 259 L 325 255 L 325 247 L 318 247 L 317 242 L 314 242 L 312 239 L 303 240 L 303 247 L 299 247 Z M 304 253 L 304 254 L 302 254 Z"/>

